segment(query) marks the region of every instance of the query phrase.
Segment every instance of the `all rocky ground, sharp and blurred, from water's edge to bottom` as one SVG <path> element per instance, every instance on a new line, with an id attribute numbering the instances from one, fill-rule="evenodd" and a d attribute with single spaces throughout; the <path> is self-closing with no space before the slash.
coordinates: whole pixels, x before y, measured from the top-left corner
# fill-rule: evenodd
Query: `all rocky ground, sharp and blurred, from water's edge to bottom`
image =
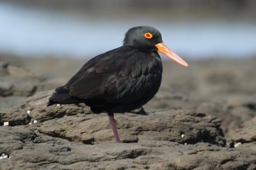
<path id="1" fill-rule="evenodd" d="M 45 106 L 53 91 L 40 91 L 65 83 L 81 61 L 1 62 L 0 169 L 256 169 L 255 59 L 186 69 L 164 62 L 161 89 L 145 111 L 115 114 L 123 143 L 114 143 L 106 113 Z"/>

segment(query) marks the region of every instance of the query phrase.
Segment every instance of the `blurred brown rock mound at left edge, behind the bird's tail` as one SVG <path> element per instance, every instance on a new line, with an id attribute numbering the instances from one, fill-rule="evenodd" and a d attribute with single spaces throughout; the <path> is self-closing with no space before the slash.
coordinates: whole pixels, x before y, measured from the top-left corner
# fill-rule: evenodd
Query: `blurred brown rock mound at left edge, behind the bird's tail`
<path id="1" fill-rule="evenodd" d="M 0 111 L 20 105 L 35 92 L 53 89 L 55 86 L 29 69 L 0 60 Z"/>

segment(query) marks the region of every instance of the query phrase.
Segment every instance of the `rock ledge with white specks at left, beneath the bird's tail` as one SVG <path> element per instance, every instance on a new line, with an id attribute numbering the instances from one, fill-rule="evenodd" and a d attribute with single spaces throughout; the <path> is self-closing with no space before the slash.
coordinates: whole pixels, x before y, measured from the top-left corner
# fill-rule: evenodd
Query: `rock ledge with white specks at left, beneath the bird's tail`
<path id="1" fill-rule="evenodd" d="M 0 125 L 3 125 L 4 122 L 9 122 L 10 125 L 25 125 L 33 120 L 44 122 L 45 120 L 63 117 L 64 115 L 88 112 L 88 107 L 80 107 L 74 104 L 47 107 L 46 104 L 52 92 L 53 90 L 39 92 L 35 96 L 29 97 L 22 106 L 0 110 Z"/>

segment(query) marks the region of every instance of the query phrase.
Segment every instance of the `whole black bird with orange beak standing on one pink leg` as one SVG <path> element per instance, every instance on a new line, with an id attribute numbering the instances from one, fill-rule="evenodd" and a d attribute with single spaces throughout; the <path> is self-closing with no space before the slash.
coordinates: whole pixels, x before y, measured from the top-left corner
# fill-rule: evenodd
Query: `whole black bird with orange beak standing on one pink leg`
<path id="1" fill-rule="evenodd" d="M 157 93 L 163 71 L 157 52 L 188 66 L 164 45 L 157 29 L 132 27 L 123 46 L 86 62 L 66 85 L 55 90 L 47 106 L 85 103 L 94 113 L 106 111 L 116 142 L 120 142 L 114 113 L 140 108 Z"/>

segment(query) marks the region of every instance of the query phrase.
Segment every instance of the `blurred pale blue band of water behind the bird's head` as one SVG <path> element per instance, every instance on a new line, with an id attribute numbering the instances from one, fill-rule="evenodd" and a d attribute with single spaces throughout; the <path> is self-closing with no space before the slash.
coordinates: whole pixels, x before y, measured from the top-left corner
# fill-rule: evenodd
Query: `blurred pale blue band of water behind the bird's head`
<path id="1" fill-rule="evenodd" d="M 0 3 L 0 52 L 93 57 L 122 45 L 124 33 L 137 25 L 159 29 L 164 43 L 185 59 L 256 54 L 256 24 L 163 22 L 144 17 L 95 20 L 4 3 Z"/>

